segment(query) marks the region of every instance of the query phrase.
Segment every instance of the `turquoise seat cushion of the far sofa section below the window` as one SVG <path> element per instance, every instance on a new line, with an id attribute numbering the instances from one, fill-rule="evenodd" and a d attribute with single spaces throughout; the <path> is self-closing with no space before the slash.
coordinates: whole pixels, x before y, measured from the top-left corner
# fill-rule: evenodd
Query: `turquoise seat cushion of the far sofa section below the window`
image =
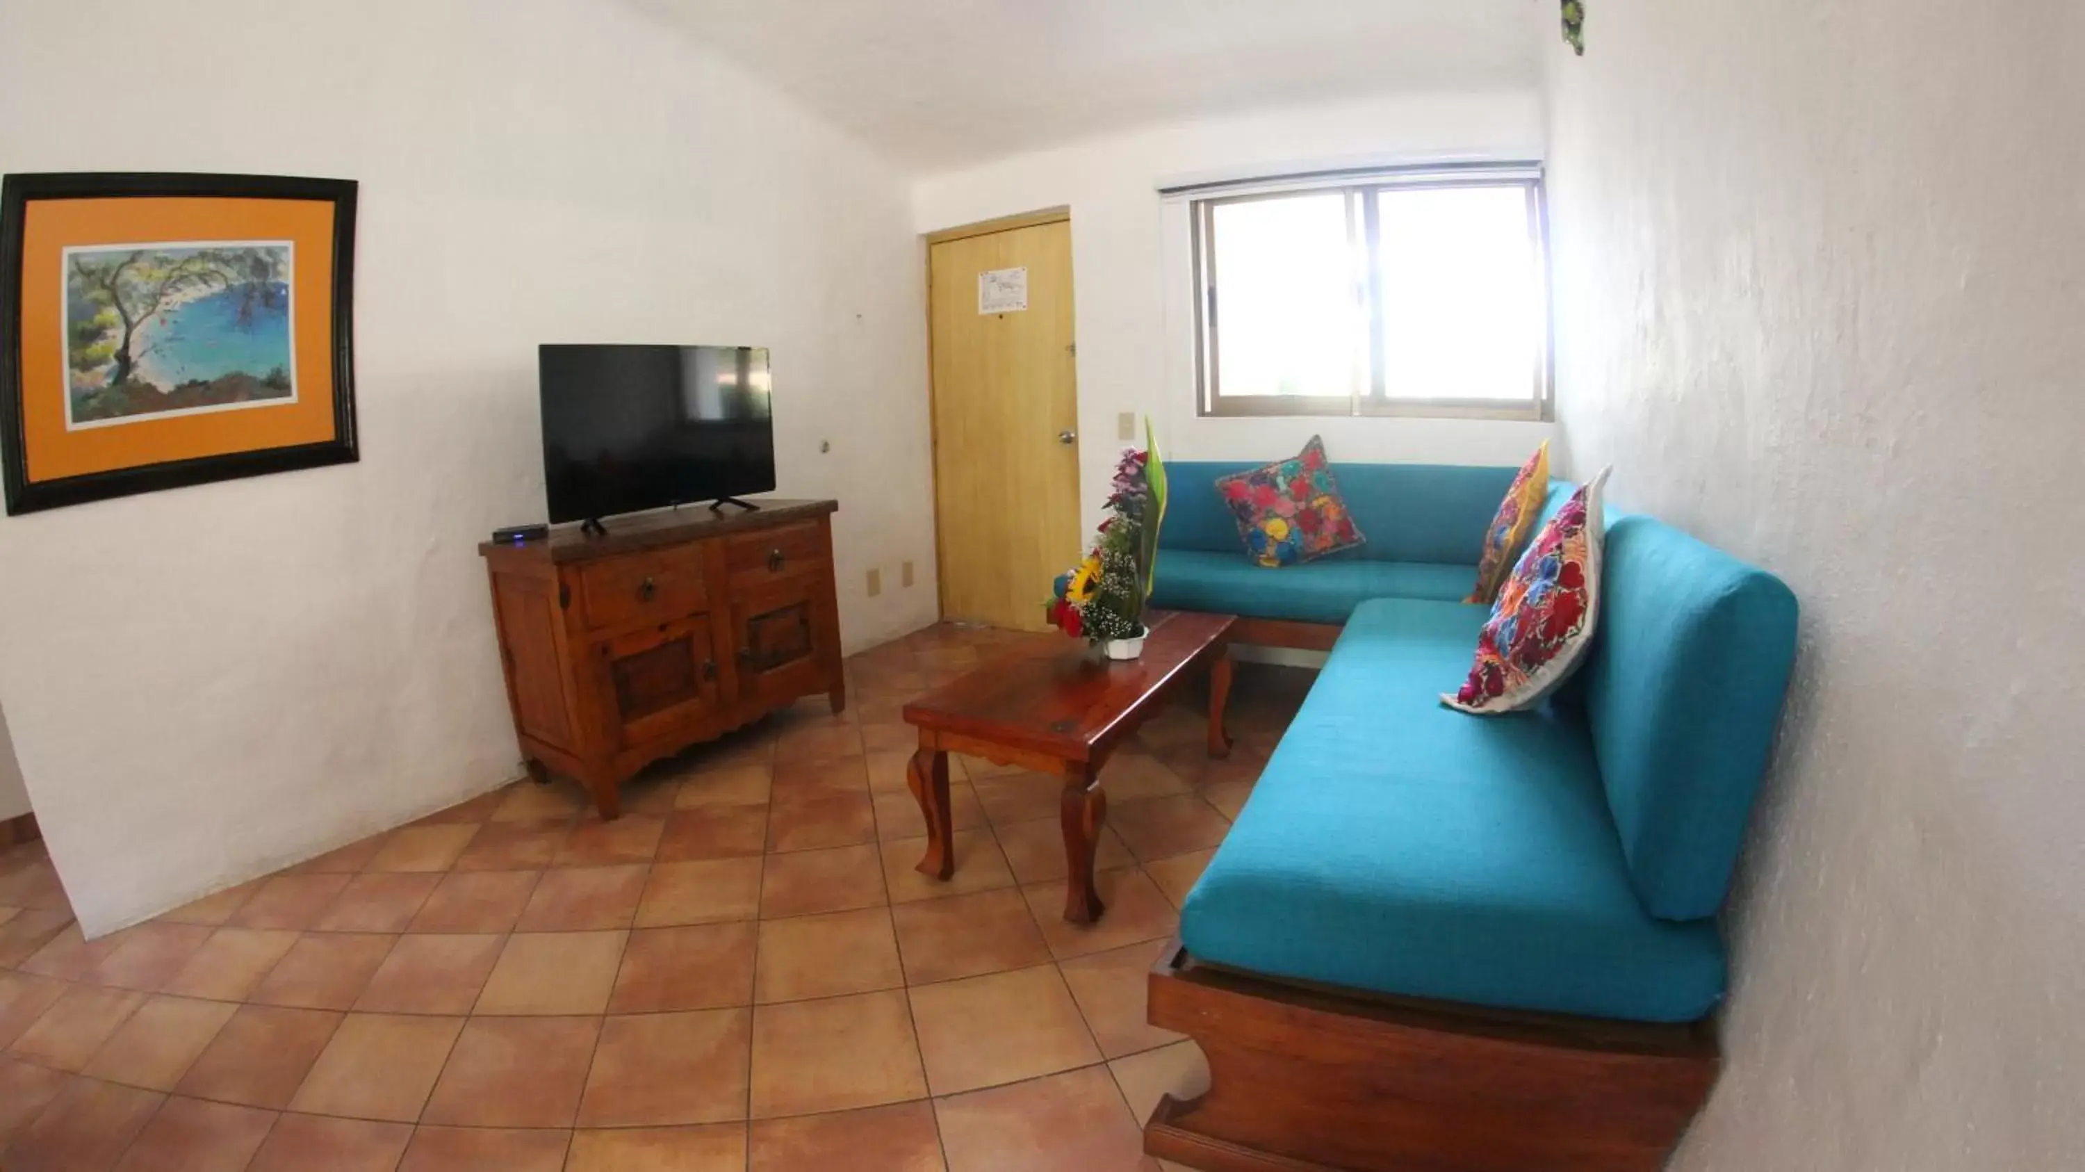
<path id="1" fill-rule="evenodd" d="M 1460 601 L 1470 592 L 1474 578 L 1474 565 L 1334 557 L 1268 569 L 1236 551 L 1159 548 L 1151 605 L 1255 619 L 1343 624 L 1353 607 L 1368 599 Z"/>

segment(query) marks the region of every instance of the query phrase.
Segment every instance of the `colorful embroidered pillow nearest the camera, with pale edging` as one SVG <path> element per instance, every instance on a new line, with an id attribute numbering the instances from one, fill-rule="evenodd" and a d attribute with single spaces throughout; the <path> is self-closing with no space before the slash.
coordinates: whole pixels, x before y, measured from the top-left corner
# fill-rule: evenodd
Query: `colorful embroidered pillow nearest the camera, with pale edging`
<path id="1" fill-rule="evenodd" d="M 1476 634 L 1476 663 L 1449 707 L 1468 713 L 1507 713 L 1535 707 L 1570 676 L 1593 642 L 1599 621 L 1599 492 L 1601 469 L 1570 500 L 1535 544 L 1520 555 L 1514 576 L 1499 590 L 1485 630 Z"/>

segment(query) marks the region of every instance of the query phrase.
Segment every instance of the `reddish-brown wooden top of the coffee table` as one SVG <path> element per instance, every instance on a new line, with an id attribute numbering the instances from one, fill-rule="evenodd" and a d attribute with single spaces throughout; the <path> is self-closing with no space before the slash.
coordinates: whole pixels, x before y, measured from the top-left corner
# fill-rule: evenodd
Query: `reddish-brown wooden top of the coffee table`
<path id="1" fill-rule="evenodd" d="M 1051 655 L 995 659 L 905 705 L 905 722 L 1090 761 L 1143 724 L 1143 707 L 1222 651 L 1234 615 L 1151 611 L 1138 659 L 1099 659 L 1065 640 Z"/>

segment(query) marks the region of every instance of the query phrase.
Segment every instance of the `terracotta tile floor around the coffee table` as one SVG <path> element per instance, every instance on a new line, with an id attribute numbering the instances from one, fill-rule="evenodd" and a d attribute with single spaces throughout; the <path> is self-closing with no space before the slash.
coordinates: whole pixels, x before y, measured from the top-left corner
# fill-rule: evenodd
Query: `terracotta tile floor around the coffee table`
<path id="1" fill-rule="evenodd" d="M 1055 782 L 951 761 L 957 874 L 911 868 L 903 703 L 1055 636 L 928 628 L 665 761 L 600 824 L 515 782 L 83 943 L 0 853 L 0 1168 L 1151 1172 L 1205 1078 L 1145 972 L 1307 678 L 1243 667 L 1103 772 L 1107 915 L 1059 918 Z"/>

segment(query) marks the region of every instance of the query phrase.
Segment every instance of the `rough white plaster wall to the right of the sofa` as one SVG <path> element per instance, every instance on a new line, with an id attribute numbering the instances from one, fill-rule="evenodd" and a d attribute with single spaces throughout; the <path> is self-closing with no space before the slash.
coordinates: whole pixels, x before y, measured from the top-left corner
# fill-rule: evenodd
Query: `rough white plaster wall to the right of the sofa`
<path id="1" fill-rule="evenodd" d="M 1804 605 L 1674 1168 L 2085 1166 L 2085 13 L 1589 8 L 1564 442 Z"/>

